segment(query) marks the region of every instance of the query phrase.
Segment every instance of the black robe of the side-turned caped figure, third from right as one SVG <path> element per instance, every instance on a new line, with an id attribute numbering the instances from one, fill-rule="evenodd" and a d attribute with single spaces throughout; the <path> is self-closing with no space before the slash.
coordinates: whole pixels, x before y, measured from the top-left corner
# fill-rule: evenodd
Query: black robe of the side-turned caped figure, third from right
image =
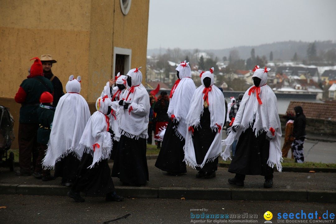
<path id="1" fill-rule="evenodd" d="M 155 166 L 173 174 L 186 173 L 186 165 L 183 162 L 185 139 L 181 140 L 176 136 L 173 126 L 173 122 L 169 121 Z"/>

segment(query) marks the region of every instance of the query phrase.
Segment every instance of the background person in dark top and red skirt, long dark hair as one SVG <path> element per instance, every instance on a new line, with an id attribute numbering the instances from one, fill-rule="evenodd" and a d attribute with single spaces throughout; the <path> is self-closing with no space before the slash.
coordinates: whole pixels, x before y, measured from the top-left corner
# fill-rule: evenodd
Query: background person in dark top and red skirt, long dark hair
<path id="1" fill-rule="evenodd" d="M 166 91 L 162 91 L 160 96 L 158 97 L 158 101 L 154 106 L 154 113 L 156 113 L 155 117 L 155 130 L 154 130 L 154 139 L 157 148 L 161 148 L 162 139 L 158 136 L 160 131 L 167 127 L 168 122 L 170 121 L 167 111 L 169 107 L 169 96 Z"/>

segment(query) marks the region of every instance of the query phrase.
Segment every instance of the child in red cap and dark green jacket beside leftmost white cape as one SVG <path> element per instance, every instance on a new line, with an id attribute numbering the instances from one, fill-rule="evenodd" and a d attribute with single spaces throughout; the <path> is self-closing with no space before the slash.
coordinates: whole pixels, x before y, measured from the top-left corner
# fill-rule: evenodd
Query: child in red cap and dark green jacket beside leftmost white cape
<path id="1" fill-rule="evenodd" d="M 43 181 L 54 180 L 50 175 L 50 169 L 42 169 L 42 160 L 48 149 L 48 142 L 55 114 L 55 107 L 52 105 L 53 97 L 49 92 L 43 92 L 40 97 L 40 107 L 37 109 L 39 118 L 39 129 L 37 130 L 37 142 L 40 143 L 39 156 L 36 161 L 33 176 Z"/>

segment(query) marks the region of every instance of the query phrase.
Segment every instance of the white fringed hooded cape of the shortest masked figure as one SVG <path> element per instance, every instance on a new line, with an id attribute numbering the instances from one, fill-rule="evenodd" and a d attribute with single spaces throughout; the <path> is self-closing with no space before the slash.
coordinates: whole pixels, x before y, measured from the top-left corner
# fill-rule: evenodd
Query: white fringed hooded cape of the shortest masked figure
<path id="1" fill-rule="evenodd" d="M 80 159 L 84 152 L 93 155 L 93 162 L 88 168 L 94 167 L 101 160 L 110 158 L 112 141 L 111 134 L 107 131 L 109 124 L 106 120 L 106 114 L 112 102 L 108 96 L 106 97 L 97 99 L 97 111 L 88 120 L 79 145 L 74 149 Z"/>

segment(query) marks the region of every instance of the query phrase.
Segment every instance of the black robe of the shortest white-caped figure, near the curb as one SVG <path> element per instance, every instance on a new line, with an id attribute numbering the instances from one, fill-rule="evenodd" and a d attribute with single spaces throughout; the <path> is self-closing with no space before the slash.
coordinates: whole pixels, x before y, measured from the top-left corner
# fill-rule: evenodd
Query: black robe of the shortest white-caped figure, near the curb
<path id="1" fill-rule="evenodd" d="M 83 153 L 82 160 L 77 170 L 77 178 L 72 186 L 75 192 L 104 195 L 115 191 L 113 180 L 110 176 L 111 169 L 108 160 L 101 160 L 91 169 L 93 157 L 89 153 Z"/>

